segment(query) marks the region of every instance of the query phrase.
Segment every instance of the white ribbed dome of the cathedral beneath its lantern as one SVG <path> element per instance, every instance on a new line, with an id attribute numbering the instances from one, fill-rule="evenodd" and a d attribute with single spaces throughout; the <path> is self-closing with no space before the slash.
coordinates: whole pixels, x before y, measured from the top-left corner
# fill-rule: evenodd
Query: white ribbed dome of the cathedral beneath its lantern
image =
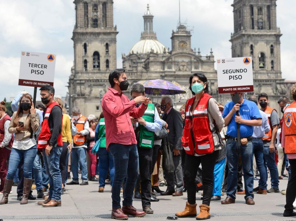
<path id="1" fill-rule="evenodd" d="M 130 53 L 148 54 L 150 51 L 161 54 L 163 51 L 168 51 L 165 46 L 156 39 L 143 39 L 137 42 L 130 50 Z"/>

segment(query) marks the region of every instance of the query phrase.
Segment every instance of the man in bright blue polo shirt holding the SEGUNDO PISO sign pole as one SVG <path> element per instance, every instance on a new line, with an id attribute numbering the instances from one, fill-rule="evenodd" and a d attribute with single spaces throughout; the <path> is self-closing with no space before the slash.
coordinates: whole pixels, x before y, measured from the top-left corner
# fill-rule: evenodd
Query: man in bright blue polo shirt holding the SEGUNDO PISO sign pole
<path id="1" fill-rule="evenodd" d="M 225 126 L 228 126 L 226 134 L 229 136 L 226 142 L 227 148 L 227 165 L 228 171 L 228 188 L 227 197 L 221 204 L 235 203 L 235 193 L 237 191 L 237 167 L 239 156 L 242 158 L 242 166 L 244 172 L 245 200 L 246 204 L 254 205 L 253 200 L 253 145 L 252 135 L 254 126 L 261 126 L 261 115 L 258 107 L 252 101 L 248 101 L 243 97 L 243 93 L 230 94 L 232 100 L 239 96 L 238 104 L 233 101 L 228 102 L 223 111 L 222 117 L 225 121 Z M 236 112 L 239 111 L 239 116 Z M 240 137 L 246 138 L 245 143 L 238 146 L 237 143 L 237 123 L 240 125 Z"/>

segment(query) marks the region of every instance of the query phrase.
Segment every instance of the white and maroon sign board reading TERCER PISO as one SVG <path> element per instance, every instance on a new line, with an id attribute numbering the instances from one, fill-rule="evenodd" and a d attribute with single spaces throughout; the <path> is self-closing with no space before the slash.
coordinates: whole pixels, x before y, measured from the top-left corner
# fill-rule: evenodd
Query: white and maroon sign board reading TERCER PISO
<path id="1" fill-rule="evenodd" d="M 54 85 L 55 54 L 22 51 L 19 85 L 42 87 Z"/>

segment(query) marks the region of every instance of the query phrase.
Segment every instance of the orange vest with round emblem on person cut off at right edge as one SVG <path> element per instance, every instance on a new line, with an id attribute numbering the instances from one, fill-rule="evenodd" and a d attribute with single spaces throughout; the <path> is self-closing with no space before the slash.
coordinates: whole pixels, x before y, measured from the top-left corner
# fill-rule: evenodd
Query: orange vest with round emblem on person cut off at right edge
<path id="1" fill-rule="evenodd" d="M 284 112 L 285 153 L 296 153 L 296 101 Z"/>

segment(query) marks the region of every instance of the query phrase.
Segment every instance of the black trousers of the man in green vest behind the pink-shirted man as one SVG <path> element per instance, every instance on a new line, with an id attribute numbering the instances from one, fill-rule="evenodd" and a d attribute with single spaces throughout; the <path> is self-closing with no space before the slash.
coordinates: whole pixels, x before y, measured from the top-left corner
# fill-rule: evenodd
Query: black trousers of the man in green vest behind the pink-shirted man
<path id="1" fill-rule="evenodd" d="M 153 148 L 138 148 L 142 207 L 150 207 Z"/>

